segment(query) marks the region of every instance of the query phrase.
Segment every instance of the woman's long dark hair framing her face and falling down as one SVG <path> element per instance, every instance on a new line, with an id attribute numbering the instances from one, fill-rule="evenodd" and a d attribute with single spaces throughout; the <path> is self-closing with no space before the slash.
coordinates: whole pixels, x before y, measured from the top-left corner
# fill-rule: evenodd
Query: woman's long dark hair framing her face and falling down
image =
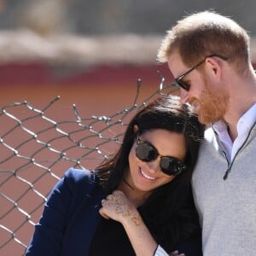
<path id="1" fill-rule="evenodd" d="M 166 249 L 172 250 L 178 241 L 200 230 L 190 181 L 204 126 L 199 123 L 192 109 L 181 104 L 177 96 L 160 96 L 149 103 L 131 119 L 118 152 L 96 168 L 107 194 L 117 189 L 129 166 L 128 156 L 137 136 L 134 125 L 138 126 L 140 134 L 165 129 L 185 137 L 187 153 L 184 162 L 187 169 L 172 182 L 154 189 L 139 209 L 155 239 Z"/>

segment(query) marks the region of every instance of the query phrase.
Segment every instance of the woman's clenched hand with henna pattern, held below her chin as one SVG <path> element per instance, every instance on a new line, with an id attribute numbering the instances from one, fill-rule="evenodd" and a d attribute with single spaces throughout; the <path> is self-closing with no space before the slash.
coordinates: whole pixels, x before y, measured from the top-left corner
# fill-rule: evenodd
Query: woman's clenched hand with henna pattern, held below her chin
<path id="1" fill-rule="evenodd" d="M 113 194 L 102 200 L 102 208 L 100 214 L 104 218 L 112 218 L 113 220 L 124 223 L 131 221 L 133 224 L 140 225 L 141 217 L 137 212 L 137 208 L 133 206 L 131 201 L 120 190 L 113 191 Z"/>

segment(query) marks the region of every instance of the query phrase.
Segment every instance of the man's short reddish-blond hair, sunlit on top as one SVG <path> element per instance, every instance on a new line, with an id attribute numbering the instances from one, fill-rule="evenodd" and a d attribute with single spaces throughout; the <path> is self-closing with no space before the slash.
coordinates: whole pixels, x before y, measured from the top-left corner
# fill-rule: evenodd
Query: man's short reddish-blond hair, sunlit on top
<path id="1" fill-rule="evenodd" d="M 250 61 L 249 47 L 247 32 L 236 21 L 203 11 L 177 21 L 177 25 L 167 31 L 157 59 L 166 62 L 177 50 L 183 63 L 192 67 L 207 55 L 224 55 L 236 71 L 242 73 Z"/>

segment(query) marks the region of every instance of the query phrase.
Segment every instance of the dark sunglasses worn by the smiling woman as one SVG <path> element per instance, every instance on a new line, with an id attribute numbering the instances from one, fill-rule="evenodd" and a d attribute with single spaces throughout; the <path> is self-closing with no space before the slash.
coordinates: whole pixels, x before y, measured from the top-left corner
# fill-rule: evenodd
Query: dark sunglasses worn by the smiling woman
<path id="1" fill-rule="evenodd" d="M 143 162 L 156 160 L 160 155 L 153 145 L 143 142 L 139 137 L 137 137 L 136 144 L 136 156 Z M 178 160 L 176 157 L 160 155 L 160 169 L 167 175 L 177 176 L 177 174 L 182 172 L 185 168 L 186 166 L 183 164 L 183 162 Z"/>

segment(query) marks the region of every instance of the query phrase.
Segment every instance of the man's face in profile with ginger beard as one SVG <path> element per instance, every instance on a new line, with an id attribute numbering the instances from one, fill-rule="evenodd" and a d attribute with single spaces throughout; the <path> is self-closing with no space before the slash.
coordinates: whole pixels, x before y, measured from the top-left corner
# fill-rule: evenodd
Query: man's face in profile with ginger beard
<path id="1" fill-rule="evenodd" d="M 196 63 L 195 63 L 196 64 Z M 203 63 L 202 65 L 206 65 Z M 177 52 L 170 55 L 168 66 L 174 76 L 186 73 L 186 67 Z M 202 124 L 209 124 L 224 119 L 228 109 L 229 96 L 227 91 L 220 84 L 213 83 L 207 78 L 207 74 L 194 69 L 183 77 L 183 82 L 189 84 L 189 90 L 181 88 L 180 96 L 183 103 L 189 103 L 195 108 L 198 119 Z"/>

